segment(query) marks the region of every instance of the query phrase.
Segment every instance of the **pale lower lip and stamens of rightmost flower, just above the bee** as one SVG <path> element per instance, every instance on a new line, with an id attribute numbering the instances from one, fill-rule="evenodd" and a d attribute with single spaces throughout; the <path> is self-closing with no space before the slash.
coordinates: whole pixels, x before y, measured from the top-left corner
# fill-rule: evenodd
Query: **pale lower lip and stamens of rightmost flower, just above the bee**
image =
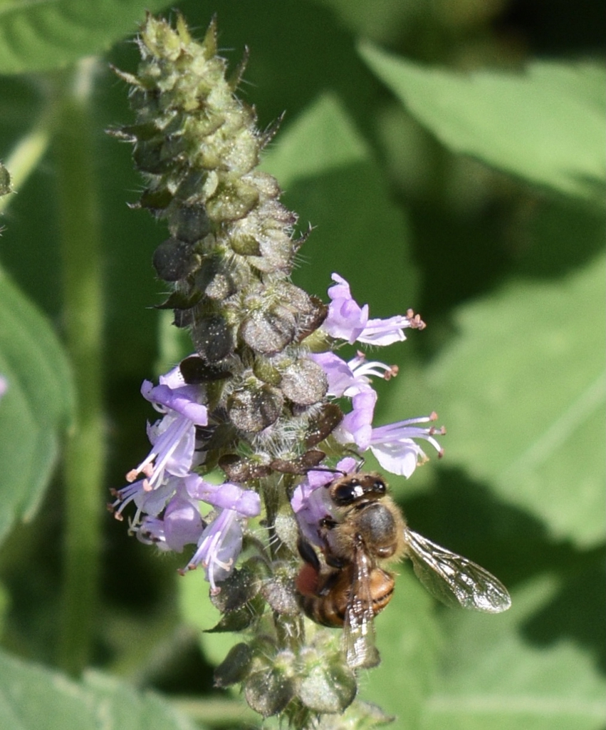
<path id="1" fill-rule="evenodd" d="M 432 413 L 430 416 L 400 420 L 397 423 L 389 423 L 387 426 L 372 429 L 369 445 L 378 463 L 392 474 L 410 477 L 417 464 L 427 461 L 424 451 L 413 439 L 424 439 L 430 442 L 438 451 L 438 456 L 442 456 L 443 450 L 434 438 L 434 434 L 444 434 L 446 431 L 443 428 L 436 431 L 434 427 L 421 429 L 414 425 L 415 423 L 427 423 L 436 418 L 438 416 Z"/>

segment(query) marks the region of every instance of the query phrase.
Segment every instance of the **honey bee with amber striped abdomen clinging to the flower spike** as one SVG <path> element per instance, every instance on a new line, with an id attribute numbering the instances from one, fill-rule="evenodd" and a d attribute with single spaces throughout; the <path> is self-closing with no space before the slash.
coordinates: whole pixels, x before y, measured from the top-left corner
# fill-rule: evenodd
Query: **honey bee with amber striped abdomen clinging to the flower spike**
<path id="1" fill-rule="evenodd" d="M 410 558 L 432 596 L 448 606 L 499 613 L 510 607 L 507 589 L 494 575 L 409 529 L 375 472 L 354 472 L 325 487 L 330 515 L 320 520 L 323 562 L 300 537 L 303 566 L 297 579 L 300 604 L 309 618 L 343 626 L 349 666 L 375 666 L 373 618 L 392 599 L 393 574 L 382 566 Z"/>

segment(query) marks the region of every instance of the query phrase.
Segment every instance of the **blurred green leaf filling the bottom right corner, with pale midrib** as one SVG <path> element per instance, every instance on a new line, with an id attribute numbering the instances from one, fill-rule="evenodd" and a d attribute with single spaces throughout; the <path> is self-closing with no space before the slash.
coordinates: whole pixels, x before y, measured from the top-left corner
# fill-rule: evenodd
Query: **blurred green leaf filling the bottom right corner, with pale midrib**
<path id="1" fill-rule="evenodd" d="M 425 704 L 423 730 L 604 727 L 604 677 L 588 652 L 562 638 L 533 645 L 525 631 L 557 583 L 541 577 L 514 591 L 512 607 L 498 616 L 445 612 L 451 640 Z"/>

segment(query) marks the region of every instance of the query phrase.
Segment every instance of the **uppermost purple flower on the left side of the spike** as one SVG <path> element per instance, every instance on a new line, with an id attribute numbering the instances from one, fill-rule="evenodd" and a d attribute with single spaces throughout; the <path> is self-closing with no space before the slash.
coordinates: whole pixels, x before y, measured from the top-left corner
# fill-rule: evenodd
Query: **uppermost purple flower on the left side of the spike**
<path id="1" fill-rule="evenodd" d="M 162 483 L 165 471 L 184 477 L 190 472 L 195 450 L 196 426 L 206 426 L 208 412 L 199 385 L 185 385 L 179 368 L 160 376 L 155 387 L 149 380 L 141 385 L 141 394 L 164 417 L 147 424 L 147 436 L 152 450 L 141 464 L 131 469 L 126 479 L 132 482 L 137 475 L 145 477 L 145 488 L 155 489 Z"/>

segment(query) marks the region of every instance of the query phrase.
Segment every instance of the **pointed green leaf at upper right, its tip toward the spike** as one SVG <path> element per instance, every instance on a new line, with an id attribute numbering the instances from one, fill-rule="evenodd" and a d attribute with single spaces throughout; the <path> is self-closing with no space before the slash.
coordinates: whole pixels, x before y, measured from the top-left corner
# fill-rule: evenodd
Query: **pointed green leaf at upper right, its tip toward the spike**
<path id="1" fill-rule="evenodd" d="M 454 152 L 587 198 L 606 178 L 602 66 L 535 61 L 524 73 L 460 74 L 368 43 L 360 53 L 409 112 Z"/>

